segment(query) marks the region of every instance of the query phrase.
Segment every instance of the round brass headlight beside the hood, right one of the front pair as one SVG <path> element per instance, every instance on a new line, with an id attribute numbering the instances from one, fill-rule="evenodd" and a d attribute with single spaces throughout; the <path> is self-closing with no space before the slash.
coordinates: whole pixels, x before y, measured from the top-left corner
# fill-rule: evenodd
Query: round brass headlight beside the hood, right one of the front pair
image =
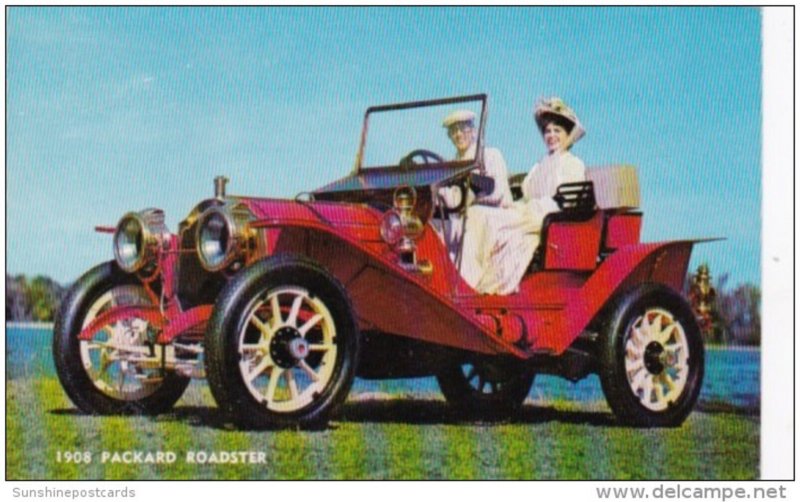
<path id="1" fill-rule="evenodd" d="M 250 245 L 248 220 L 248 214 L 231 212 L 225 207 L 213 207 L 200 216 L 197 254 L 206 270 L 222 270 L 246 256 Z"/>

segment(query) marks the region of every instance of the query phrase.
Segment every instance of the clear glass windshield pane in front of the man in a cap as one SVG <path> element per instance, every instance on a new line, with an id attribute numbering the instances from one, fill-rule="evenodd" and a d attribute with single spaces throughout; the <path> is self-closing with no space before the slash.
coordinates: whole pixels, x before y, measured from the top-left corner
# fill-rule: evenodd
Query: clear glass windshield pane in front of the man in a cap
<path id="1" fill-rule="evenodd" d="M 448 99 L 446 104 L 434 101 L 371 109 L 367 116 L 361 168 L 398 166 L 401 162 L 421 166 L 474 160 L 483 101 L 481 97 L 453 101 Z M 470 130 L 462 125 L 463 122 L 459 122 L 448 130 L 443 126 L 443 121 L 454 112 L 471 112 L 474 115 L 474 127 Z M 457 118 L 468 116 L 468 113 L 456 115 Z M 466 144 L 471 142 L 473 147 L 466 149 L 465 155 L 457 159 L 455 145 L 459 143 L 463 148 L 465 141 Z"/>

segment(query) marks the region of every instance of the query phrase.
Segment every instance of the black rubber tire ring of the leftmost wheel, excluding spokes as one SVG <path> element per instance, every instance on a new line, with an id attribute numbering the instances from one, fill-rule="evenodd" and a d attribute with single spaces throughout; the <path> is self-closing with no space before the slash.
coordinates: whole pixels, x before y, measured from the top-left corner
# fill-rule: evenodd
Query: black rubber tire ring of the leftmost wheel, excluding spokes
<path id="1" fill-rule="evenodd" d="M 92 304 L 114 287 L 140 285 L 134 275 L 107 262 L 86 272 L 67 292 L 53 329 L 53 359 L 58 379 L 70 400 L 92 415 L 156 415 L 169 411 L 183 395 L 189 379 L 168 372 L 154 393 L 138 400 L 122 400 L 104 394 L 89 378 L 81 363 L 77 335 Z"/>

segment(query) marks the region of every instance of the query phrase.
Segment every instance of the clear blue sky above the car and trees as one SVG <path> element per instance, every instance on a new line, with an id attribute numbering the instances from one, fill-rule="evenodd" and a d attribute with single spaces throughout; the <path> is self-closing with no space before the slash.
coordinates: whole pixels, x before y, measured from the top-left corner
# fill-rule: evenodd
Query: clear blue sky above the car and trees
<path id="1" fill-rule="evenodd" d="M 559 95 L 587 165 L 639 168 L 643 238 L 760 280 L 761 14 L 752 8 L 10 8 L 9 273 L 74 280 L 126 211 L 173 230 L 217 174 L 291 197 L 352 167 L 374 104 L 486 92 L 512 172 Z"/>

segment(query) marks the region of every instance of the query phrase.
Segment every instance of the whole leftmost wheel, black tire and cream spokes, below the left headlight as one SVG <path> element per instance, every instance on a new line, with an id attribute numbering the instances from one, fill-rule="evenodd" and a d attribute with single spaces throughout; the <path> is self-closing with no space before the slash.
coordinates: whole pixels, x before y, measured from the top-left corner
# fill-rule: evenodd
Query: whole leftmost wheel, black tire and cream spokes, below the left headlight
<path id="1" fill-rule="evenodd" d="M 155 362 L 157 331 L 137 317 L 109 323 L 91 340 L 78 334 L 117 306 L 152 305 L 138 279 L 115 263 L 87 272 L 68 292 L 53 330 L 56 372 L 67 395 L 91 414 L 157 414 L 181 397 L 189 379 Z"/>

